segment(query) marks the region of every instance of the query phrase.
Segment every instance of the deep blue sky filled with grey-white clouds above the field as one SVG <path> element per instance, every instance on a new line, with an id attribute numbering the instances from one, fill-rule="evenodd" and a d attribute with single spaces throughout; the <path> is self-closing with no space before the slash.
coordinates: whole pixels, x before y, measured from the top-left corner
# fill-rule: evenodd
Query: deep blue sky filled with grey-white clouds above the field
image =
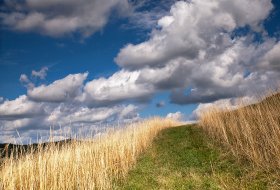
<path id="1" fill-rule="evenodd" d="M 278 0 L 0 0 L 0 143 L 279 87 Z"/>

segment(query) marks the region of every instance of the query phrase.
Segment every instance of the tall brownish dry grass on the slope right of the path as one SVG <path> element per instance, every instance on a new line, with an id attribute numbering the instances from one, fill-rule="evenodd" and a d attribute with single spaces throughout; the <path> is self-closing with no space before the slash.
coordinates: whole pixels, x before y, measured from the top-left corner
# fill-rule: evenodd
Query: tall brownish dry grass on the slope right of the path
<path id="1" fill-rule="evenodd" d="M 237 158 L 279 171 L 280 94 L 235 110 L 212 107 L 200 117 L 200 126 L 225 144 Z"/>

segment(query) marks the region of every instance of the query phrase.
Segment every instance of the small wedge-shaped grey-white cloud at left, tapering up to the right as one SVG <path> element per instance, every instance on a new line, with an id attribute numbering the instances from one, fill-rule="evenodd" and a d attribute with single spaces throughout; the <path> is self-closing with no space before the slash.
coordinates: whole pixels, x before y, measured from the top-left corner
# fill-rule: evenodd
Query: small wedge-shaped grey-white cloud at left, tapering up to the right
<path id="1" fill-rule="evenodd" d="M 46 86 L 41 85 L 27 92 L 31 100 L 37 102 L 65 102 L 72 100 L 81 93 L 88 73 L 70 74 Z"/>

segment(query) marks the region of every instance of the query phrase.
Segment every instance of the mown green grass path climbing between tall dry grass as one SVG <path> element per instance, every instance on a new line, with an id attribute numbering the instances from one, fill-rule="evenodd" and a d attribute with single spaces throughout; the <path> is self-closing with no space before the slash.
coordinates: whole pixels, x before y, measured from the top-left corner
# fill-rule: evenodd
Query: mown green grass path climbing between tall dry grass
<path id="1" fill-rule="evenodd" d="M 241 166 L 209 142 L 196 126 L 164 130 L 115 189 L 279 188 L 272 176 Z"/>

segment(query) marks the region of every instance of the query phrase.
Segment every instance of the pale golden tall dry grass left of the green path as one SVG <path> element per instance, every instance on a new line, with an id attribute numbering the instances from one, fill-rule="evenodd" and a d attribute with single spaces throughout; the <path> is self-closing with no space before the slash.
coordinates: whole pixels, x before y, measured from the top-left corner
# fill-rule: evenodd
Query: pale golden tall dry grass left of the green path
<path id="1" fill-rule="evenodd" d="M 35 152 L 30 148 L 1 163 L 0 189 L 111 189 L 159 131 L 175 125 L 178 122 L 154 118 L 86 141 L 51 143 Z"/>

